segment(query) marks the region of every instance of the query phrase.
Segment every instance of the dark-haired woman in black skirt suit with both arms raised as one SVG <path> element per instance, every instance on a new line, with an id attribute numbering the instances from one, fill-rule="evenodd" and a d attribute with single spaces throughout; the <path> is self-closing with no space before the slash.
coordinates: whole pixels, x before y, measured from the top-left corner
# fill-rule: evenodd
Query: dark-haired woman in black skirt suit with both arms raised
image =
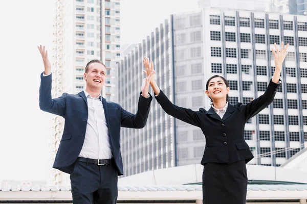
<path id="1" fill-rule="evenodd" d="M 275 58 L 275 72 L 265 93 L 248 104 L 228 103 L 230 91 L 227 80 L 218 75 L 211 77 L 206 84 L 206 95 L 211 99 L 211 108 L 192 111 L 173 105 L 159 89 L 155 80 L 150 85 L 162 109 L 174 118 L 198 126 L 206 137 L 206 147 L 201 164 L 203 171 L 203 203 L 245 204 L 247 193 L 246 163 L 253 159 L 252 152 L 244 140 L 245 123 L 270 105 L 280 86 L 282 63 L 287 48 L 281 42 L 278 50 L 272 53 Z M 144 58 L 144 73 L 153 71 L 153 63 Z"/>

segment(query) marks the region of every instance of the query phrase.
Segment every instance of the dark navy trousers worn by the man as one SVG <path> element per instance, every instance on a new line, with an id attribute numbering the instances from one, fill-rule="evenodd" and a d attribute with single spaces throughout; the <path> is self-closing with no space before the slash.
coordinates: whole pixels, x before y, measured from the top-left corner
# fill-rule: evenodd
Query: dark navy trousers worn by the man
<path id="1" fill-rule="evenodd" d="M 70 175 L 74 204 L 113 204 L 117 201 L 118 175 L 115 164 L 76 161 Z"/>

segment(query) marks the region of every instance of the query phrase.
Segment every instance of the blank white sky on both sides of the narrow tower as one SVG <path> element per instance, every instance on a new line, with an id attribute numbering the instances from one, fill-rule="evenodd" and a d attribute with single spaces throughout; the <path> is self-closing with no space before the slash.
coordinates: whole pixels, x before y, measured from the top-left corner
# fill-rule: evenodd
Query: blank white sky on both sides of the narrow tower
<path id="1" fill-rule="evenodd" d="M 47 180 L 52 170 L 51 114 L 38 107 L 37 45 L 52 49 L 53 2 L 4 1 L 0 8 L 0 181 Z M 121 0 L 121 44 L 139 43 L 170 14 L 195 9 L 197 0 Z"/>

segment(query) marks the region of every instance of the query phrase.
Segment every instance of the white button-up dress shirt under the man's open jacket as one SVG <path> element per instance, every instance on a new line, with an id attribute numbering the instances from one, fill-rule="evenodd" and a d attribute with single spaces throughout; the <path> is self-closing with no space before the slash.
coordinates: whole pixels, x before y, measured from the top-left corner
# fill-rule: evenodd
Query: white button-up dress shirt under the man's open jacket
<path id="1" fill-rule="evenodd" d="M 90 159 L 111 159 L 112 150 L 109 142 L 108 127 L 101 102 L 101 95 L 91 97 L 84 91 L 87 99 L 89 117 L 87 118 L 84 143 L 79 157 Z"/>

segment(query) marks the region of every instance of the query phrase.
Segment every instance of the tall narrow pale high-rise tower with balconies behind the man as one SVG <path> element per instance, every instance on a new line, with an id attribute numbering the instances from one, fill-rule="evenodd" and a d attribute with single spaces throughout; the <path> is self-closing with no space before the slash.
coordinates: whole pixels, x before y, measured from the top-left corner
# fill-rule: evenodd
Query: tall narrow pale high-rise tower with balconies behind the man
<path id="1" fill-rule="evenodd" d="M 85 89 L 83 80 L 87 62 L 99 59 L 106 65 L 106 100 L 117 101 L 116 68 L 120 60 L 120 0 L 56 0 L 52 64 L 53 97 L 63 92 Z M 63 119 L 53 119 L 50 144 L 53 162 L 63 129 Z M 52 183 L 69 181 L 68 175 L 54 170 Z"/>

